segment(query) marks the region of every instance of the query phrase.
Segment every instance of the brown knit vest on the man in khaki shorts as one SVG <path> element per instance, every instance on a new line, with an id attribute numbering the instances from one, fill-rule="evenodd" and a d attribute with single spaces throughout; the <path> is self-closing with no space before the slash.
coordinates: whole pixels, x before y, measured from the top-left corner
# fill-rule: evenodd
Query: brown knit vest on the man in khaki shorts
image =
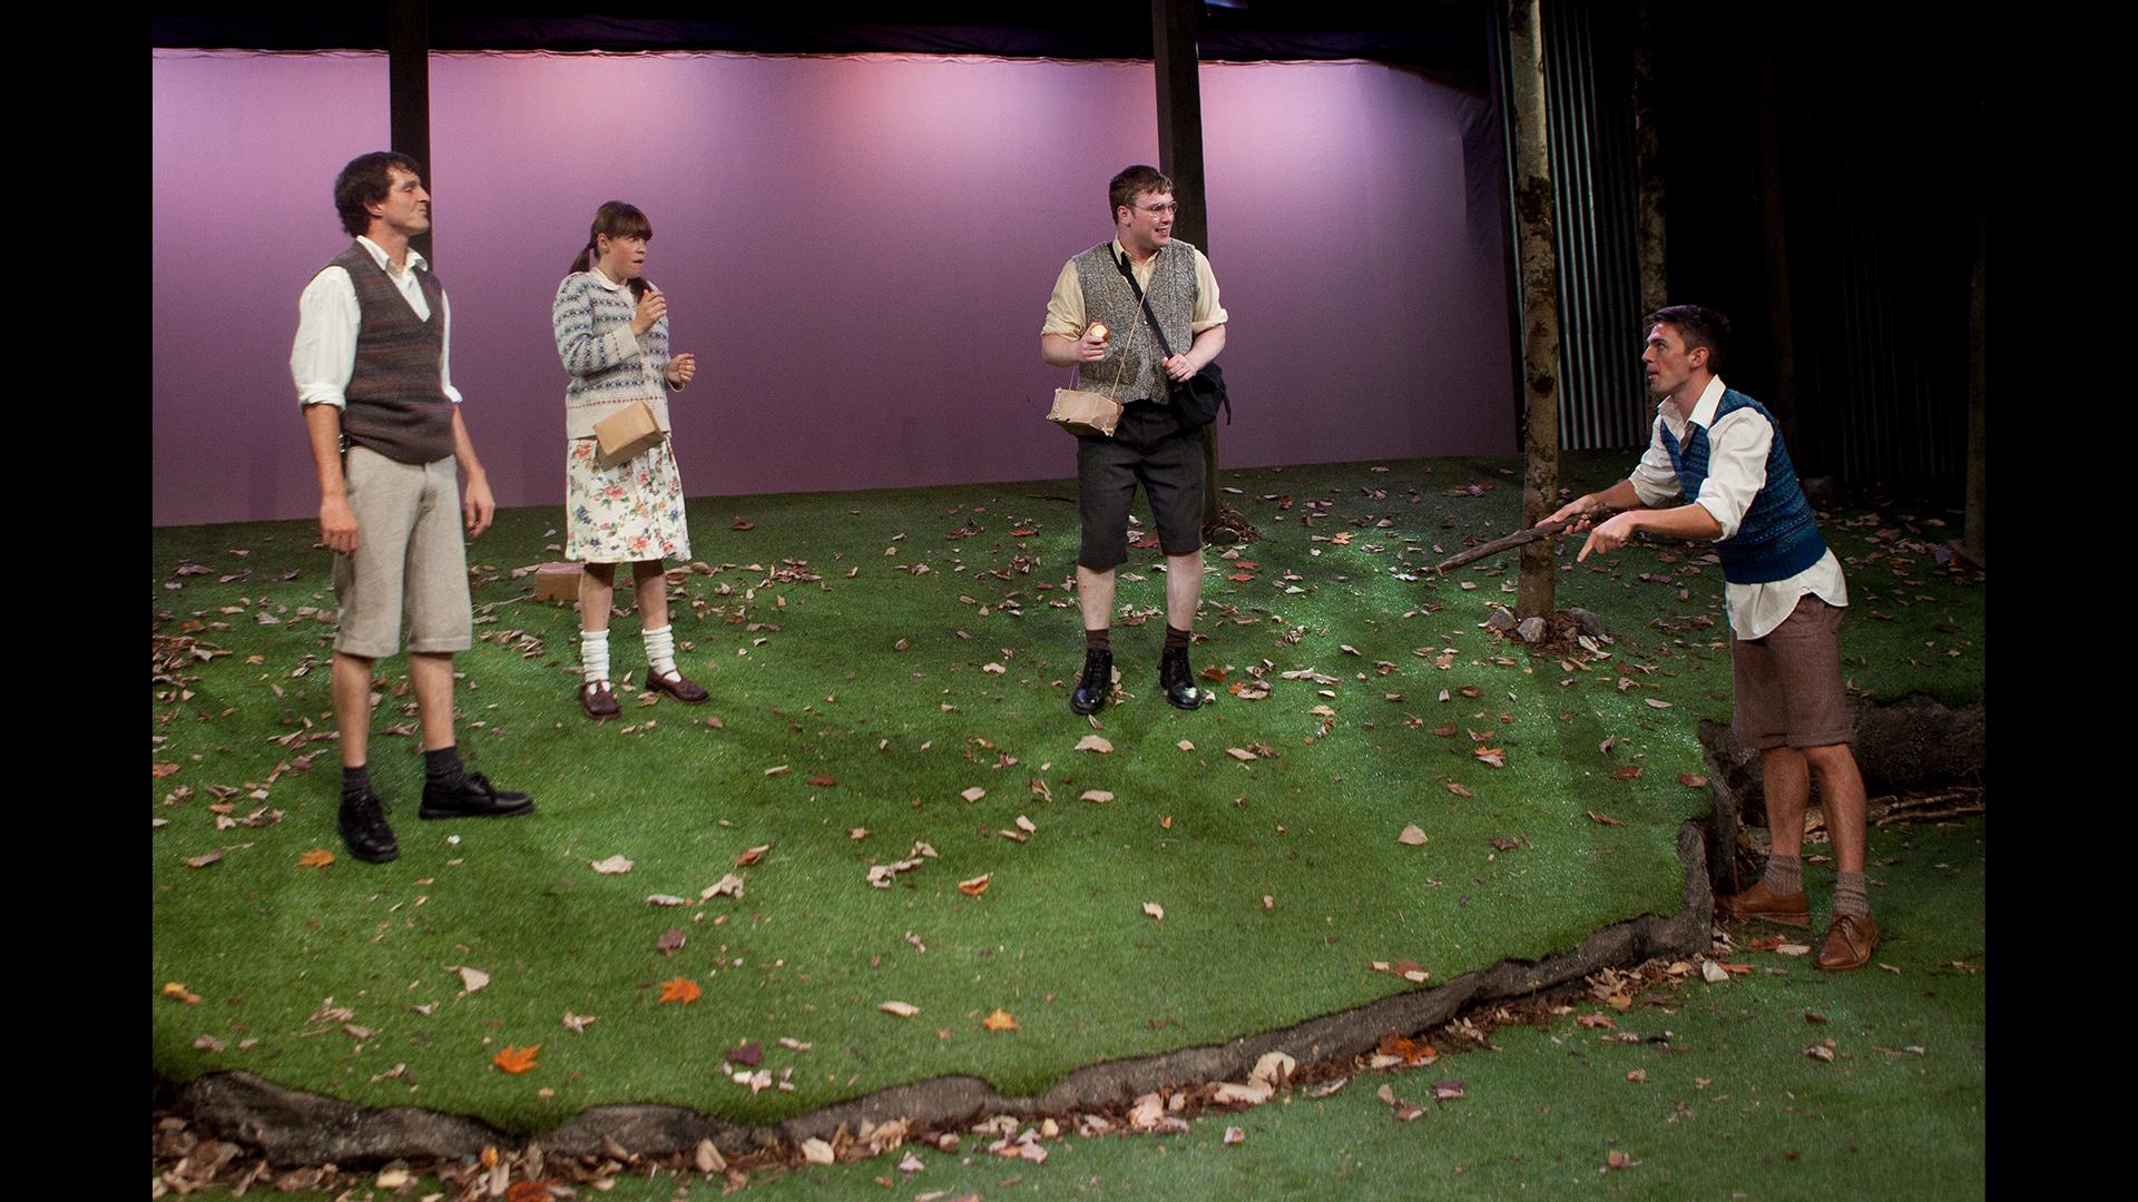
<path id="1" fill-rule="evenodd" d="M 445 355 L 445 289 L 417 272 L 430 321 L 408 308 L 400 287 L 363 246 L 334 257 L 357 287 L 357 364 L 342 398 L 342 434 L 402 464 L 430 464 L 453 453 L 453 402 L 438 383 Z M 410 267 L 413 269 L 413 267 Z"/>

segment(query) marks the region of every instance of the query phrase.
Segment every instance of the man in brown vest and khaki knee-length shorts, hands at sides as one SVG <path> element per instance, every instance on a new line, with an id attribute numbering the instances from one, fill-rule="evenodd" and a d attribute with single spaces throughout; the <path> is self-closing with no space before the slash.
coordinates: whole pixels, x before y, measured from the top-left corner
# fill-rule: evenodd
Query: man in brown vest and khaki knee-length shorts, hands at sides
<path id="1" fill-rule="evenodd" d="M 430 229 L 430 192 L 406 154 L 355 158 L 334 207 L 357 242 L 297 302 L 291 376 L 319 466 L 319 539 L 334 552 L 334 725 L 342 740 L 342 843 L 359 860 L 400 856 L 368 768 L 372 665 L 400 650 L 423 729 L 421 817 L 511 817 L 526 793 L 494 789 L 460 764 L 453 652 L 468 650 L 468 535 L 496 503 L 460 419 L 447 370 L 451 306 L 408 240 Z M 468 475 L 460 496 L 453 464 Z"/>

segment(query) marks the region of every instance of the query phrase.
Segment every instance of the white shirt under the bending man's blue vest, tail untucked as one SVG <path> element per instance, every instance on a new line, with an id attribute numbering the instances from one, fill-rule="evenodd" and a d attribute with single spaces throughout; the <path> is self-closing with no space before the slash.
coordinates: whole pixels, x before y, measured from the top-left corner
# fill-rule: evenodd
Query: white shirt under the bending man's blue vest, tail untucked
<path id="1" fill-rule="evenodd" d="M 1640 464 L 1633 466 L 1633 475 L 1627 479 L 1633 483 L 1640 503 L 1651 509 L 1676 500 L 1683 490 L 1678 488 L 1678 471 L 1670 466 L 1670 451 L 1663 447 L 1663 426 L 1670 426 L 1670 436 L 1678 441 L 1680 451 L 1691 428 L 1700 426 L 1708 432 L 1708 479 L 1700 483 L 1700 496 L 1693 496 L 1691 503 L 1706 509 L 1715 518 L 1715 524 L 1723 528 L 1717 539 L 1728 539 L 1736 535 L 1745 522 L 1745 511 L 1751 509 L 1753 498 L 1766 488 L 1766 453 L 1775 445 L 1775 426 L 1749 406 L 1736 409 L 1721 421 L 1715 421 L 1721 400 L 1723 381 L 1721 376 L 1713 376 L 1708 379 L 1708 387 L 1700 391 L 1700 402 L 1693 404 L 1689 417 L 1680 417 L 1678 406 L 1668 398 L 1657 404 L 1648 451 L 1640 456 Z M 1819 556 L 1819 563 L 1787 580 L 1725 584 L 1723 599 L 1730 607 L 1730 629 L 1740 639 L 1766 637 L 1768 631 L 1796 610 L 1796 603 L 1807 592 L 1817 595 L 1834 607 L 1849 603 L 1849 586 L 1841 577 L 1841 560 L 1834 558 L 1832 548 Z"/>

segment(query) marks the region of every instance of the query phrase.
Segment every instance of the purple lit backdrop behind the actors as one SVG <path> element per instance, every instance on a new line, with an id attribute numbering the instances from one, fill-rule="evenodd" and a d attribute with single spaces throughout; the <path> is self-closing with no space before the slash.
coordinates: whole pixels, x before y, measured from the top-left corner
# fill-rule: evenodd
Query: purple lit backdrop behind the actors
<path id="1" fill-rule="evenodd" d="M 154 522 L 316 513 L 295 302 L 346 244 L 334 173 L 385 143 L 385 58 L 152 75 Z M 1225 464 L 1512 451 L 1482 103 L 1373 64 L 1202 88 Z M 549 297 L 607 199 L 652 218 L 648 278 L 699 355 L 673 402 L 693 496 L 1071 475 L 1039 325 L 1125 163 L 1157 163 L 1150 64 L 434 56 L 436 267 L 498 503 L 562 500 Z"/>

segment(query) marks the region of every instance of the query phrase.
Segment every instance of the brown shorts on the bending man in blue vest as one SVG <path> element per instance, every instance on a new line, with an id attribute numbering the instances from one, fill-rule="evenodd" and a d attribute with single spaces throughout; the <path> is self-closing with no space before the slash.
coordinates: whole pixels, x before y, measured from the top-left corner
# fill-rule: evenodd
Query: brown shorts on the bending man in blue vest
<path id="1" fill-rule="evenodd" d="M 1856 742 L 1841 693 L 1841 610 L 1813 592 L 1766 637 L 1730 639 L 1730 725 L 1749 749 Z"/>

